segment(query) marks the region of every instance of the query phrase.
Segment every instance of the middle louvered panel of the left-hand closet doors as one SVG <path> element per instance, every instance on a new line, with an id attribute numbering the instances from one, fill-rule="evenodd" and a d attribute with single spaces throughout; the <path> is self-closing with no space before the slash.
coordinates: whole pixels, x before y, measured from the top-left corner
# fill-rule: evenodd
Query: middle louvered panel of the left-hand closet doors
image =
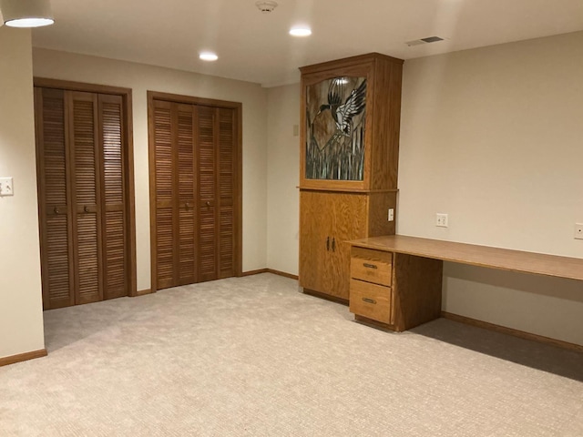
<path id="1" fill-rule="evenodd" d="M 103 300 L 97 95 L 68 94 L 76 303 Z"/>

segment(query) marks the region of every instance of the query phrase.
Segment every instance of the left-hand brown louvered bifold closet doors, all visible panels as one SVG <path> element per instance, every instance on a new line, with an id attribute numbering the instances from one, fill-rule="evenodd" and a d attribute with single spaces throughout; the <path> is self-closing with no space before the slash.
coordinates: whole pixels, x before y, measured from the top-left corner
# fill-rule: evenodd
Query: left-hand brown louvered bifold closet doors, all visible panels
<path id="1" fill-rule="evenodd" d="M 35 87 L 43 306 L 133 290 L 124 98 Z"/>

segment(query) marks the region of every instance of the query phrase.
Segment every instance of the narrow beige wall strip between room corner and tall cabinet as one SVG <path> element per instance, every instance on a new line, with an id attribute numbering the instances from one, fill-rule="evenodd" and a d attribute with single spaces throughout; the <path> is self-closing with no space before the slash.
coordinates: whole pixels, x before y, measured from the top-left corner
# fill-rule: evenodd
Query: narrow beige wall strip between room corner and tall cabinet
<path id="1" fill-rule="evenodd" d="M 267 259 L 270 269 L 298 274 L 300 86 L 268 89 Z"/>

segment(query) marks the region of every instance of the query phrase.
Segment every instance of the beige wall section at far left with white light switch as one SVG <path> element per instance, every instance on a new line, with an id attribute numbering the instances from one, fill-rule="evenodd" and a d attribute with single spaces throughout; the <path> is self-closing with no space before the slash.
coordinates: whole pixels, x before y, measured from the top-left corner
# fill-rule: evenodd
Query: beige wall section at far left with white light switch
<path id="1" fill-rule="evenodd" d="M 0 358 L 45 348 L 29 30 L 0 27 Z"/>

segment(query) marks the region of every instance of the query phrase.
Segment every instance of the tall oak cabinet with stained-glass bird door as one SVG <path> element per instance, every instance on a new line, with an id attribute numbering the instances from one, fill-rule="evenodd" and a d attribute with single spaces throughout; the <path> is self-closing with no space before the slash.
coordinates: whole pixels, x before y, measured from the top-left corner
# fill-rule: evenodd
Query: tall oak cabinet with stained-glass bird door
<path id="1" fill-rule="evenodd" d="M 302 71 L 300 285 L 349 299 L 350 239 L 394 234 L 403 61 L 354 56 Z"/>

